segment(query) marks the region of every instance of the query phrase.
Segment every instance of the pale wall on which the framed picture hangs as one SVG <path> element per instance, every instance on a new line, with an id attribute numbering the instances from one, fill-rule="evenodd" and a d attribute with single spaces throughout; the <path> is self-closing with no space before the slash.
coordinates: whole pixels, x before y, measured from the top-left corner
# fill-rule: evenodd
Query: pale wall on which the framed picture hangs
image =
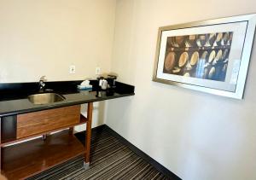
<path id="1" fill-rule="evenodd" d="M 255 48 L 241 101 L 151 80 L 158 27 L 255 7 L 254 0 L 117 1 L 112 71 L 136 95 L 108 102 L 107 125 L 183 179 L 256 179 Z"/>

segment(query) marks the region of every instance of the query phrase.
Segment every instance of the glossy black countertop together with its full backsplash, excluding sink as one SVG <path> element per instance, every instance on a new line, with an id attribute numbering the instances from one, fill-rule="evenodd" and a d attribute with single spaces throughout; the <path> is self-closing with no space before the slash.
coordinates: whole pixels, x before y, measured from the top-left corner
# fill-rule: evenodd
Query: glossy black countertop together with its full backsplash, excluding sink
<path id="1" fill-rule="evenodd" d="M 35 105 L 29 102 L 27 95 L 37 94 L 36 83 L 25 84 L 0 84 L 0 118 L 20 113 L 32 113 L 56 107 L 67 107 L 88 102 L 101 102 L 108 99 L 115 99 L 124 96 L 134 96 L 135 87 L 130 84 L 116 82 L 116 87 L 112 93 L 101 91 L 102 96 L 96 97 L 96 90 L 99 90 L 98 81 L 90 80 L 92 90 L 78 90 L 77 85 L 81 81 L 65 81 L 65 82 L 49 82 L 47 88 L 52 88 L 55 93 L 59 93 L 65 97 L 62 102 L 52 104 Z M 111 96 L 110 96 L 111 95 Z"/>

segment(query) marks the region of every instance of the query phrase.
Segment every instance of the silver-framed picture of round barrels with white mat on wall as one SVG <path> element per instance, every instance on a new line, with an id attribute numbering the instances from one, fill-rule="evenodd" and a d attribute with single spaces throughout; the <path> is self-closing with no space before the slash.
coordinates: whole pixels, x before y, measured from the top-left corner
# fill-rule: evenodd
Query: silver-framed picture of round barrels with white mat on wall
<path id="1" fill-rule="evenodd" d="M 159 28 L 153 80 L 241 99 L 256 14 Z"/>

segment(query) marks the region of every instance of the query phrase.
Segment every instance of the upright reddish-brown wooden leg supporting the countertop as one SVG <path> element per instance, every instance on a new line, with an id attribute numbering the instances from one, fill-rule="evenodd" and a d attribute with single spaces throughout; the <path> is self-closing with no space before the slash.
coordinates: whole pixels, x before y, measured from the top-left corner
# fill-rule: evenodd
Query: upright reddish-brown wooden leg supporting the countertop
<path id="1" fill-rule="evenodd" d="M 85 154 L 84 154 L 84 168 L 88 169 L 90 165 L 90 136 L 91 136 L 91 120 L 92 120 L 93 102 L 88 103 L 87 108 L 87 123 L 85 131 Z"/>

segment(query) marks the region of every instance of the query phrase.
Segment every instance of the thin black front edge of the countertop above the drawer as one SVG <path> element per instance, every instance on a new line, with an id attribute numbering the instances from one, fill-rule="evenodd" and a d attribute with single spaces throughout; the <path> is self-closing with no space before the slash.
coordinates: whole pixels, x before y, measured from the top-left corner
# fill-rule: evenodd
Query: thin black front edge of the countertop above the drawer
<path id="1" fill-rule="evenodd" d="M 114 95 L 114 96 L 97 97 L 95 100 L 63 102 L 63 103 L 59 103 L 59 104 L 53 103 L 51 105 L 44 105 L 44 106 L 42 105 L 42 107 L 32 107 L 32 108 L 27 108 L 27 109 L 22 109 L 22 110 L 9 111 L 7 113 L 0 113 L 0 118 L 5 117 L 5 116 L 13 116 L 13 115 L 21 114 L 21 113 L 32 113 L 32 112 L 53 109 L 53 108 L 58 108 L 58 107 L 68 107 L 68 106 L 73 106 L 73 105 L 85 104 L 88 102 L 102 102 L 105 100 L 116 99 L 116 98 L 125 97 L 125 96 L 134 96 L 134 95 L 135 95 L 135 93 L 122 94 L 122 95 L 119 94 L 119 95 Z"/>

